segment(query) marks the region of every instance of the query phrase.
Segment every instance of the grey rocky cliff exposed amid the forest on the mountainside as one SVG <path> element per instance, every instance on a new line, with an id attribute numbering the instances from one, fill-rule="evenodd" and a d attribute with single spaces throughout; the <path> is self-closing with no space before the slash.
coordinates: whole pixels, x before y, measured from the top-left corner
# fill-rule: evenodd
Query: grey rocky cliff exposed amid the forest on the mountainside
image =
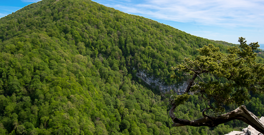
<path id="1" fill-rule="evenodd" d="M 150 85 L 152 87 L 158 87 L 161 92 L 166 92 L 169 90 L 176 90 L 178 92 L 185 92 L 185 90 L 186 90 L 187 83 L 184 83 L 180 86 L 178 86 L 178 85 L 164 85 L 164 83 L 162 83 L 159 79 L 156 79 L 151 75 L 147 75 L 144 72 L 145 72 L 145 70 L 139 71 L 136 74 L 136 76 L 139 77 L 140 79 L 142 79 L 148 85 Z"/>

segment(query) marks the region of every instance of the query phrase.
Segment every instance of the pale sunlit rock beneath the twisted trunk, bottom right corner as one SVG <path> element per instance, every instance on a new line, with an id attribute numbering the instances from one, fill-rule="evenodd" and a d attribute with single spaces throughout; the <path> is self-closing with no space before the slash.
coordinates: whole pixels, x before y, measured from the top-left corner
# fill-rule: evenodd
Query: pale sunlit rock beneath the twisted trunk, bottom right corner
<path id="1" fill-rule="evenodd" d="M 264 125 L 264 117 L 261 117 L 260 121 Z M 258 132 L 255 128 L 248 125 L 248 127 L 244 128 L 243 131 L 232 131 L 225 135 L 263 135 L 263 134 Z"/>

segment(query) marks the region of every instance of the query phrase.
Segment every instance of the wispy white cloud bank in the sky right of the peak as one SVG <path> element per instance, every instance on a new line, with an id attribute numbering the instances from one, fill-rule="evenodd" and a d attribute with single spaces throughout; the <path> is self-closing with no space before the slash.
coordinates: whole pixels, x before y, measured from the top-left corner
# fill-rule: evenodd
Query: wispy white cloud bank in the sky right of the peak
<path id="1" fill-rule="evenodd" d="M 142 0 L 112 4 L 151 18 L 228 27 L 264 27 L 263 0 Z"/>

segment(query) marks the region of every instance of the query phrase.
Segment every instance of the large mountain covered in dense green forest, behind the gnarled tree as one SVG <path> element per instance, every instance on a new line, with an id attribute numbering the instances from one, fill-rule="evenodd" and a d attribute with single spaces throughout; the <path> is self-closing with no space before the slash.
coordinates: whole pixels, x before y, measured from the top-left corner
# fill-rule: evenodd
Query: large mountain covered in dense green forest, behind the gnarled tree
<path id="1" fill-rule="evenodd" d="M 208 44 L 227 49 L 89 0 L 28 5 L 0 19 L 0 134 L 224 134 L 246 127 L 172 127 L 161 96 L 136 77 L 144 70 L 181 84 L 170 78 L 171 66 Z M 249 110 L 263 115 L 263 96 L 253 101 Z M 201 117 L 202 102 L 191 96 L 177 115 Z"/>

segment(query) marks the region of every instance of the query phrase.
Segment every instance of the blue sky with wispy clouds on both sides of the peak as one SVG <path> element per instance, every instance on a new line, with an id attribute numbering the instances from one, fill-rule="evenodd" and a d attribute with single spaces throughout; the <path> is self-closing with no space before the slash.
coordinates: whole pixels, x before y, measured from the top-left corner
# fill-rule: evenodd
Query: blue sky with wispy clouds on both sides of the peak
<path id="1" fill-rule="evenodd" d="M 0 17 L 39 0 L 1 0 Z M 195 36 L 238 44 L 264 44 L 263 0 L 93 0 Z"/>

